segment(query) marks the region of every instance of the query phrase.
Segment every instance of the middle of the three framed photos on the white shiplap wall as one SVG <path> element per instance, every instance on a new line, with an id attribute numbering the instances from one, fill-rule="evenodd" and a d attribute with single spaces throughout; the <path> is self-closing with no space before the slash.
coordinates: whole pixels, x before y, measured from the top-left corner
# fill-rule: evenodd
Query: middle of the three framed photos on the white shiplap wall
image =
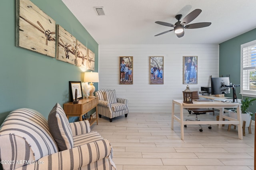
<path id="1" fill-rule="evenodd" d="M 164 57 L 149 57 L 149 84 L 164 84 Z"/>

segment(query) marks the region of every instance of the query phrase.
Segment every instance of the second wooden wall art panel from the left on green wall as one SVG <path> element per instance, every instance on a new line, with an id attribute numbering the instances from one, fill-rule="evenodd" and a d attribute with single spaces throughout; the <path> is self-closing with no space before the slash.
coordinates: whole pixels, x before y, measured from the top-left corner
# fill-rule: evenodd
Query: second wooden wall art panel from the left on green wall
<path id="1" fill-rule="evenodd" d="M 76 64 L 76 38 L 60 25 L 56 25 L 57 44 L 56 59 Z"/>

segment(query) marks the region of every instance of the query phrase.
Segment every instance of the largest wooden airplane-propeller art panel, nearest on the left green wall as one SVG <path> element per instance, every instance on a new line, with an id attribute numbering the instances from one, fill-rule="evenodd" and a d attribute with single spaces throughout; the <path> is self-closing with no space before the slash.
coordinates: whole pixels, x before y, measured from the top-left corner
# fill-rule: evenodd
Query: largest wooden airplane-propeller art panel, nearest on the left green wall
<path id="1" fill-rule="evenodd" d="M 55 57 L 56 22 L 30 0 L 16 0 L 16 46 Z"/>

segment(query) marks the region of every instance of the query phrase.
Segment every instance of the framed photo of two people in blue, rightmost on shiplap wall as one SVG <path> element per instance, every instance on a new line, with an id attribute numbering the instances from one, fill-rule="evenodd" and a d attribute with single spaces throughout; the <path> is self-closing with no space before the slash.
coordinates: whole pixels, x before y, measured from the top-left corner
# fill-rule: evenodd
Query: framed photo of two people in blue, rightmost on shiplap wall
<path id="1" fill-rule="evenodd" d="M 197 84 L 197 56 L 183 56 L 183 84 Z"/>

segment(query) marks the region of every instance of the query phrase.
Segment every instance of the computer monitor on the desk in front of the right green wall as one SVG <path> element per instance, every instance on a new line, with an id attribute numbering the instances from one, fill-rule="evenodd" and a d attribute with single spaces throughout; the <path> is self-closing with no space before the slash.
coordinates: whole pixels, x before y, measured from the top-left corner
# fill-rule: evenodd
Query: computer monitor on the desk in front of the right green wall
<path id="1" fill-rule="evenodd" d="M 215 94 L 228 94 L 230 93 L 230 88 L 226 86 L 230 86 L 229 77 L 212 77 L 211 78 L 211 86 L 212 93 Z"/>

